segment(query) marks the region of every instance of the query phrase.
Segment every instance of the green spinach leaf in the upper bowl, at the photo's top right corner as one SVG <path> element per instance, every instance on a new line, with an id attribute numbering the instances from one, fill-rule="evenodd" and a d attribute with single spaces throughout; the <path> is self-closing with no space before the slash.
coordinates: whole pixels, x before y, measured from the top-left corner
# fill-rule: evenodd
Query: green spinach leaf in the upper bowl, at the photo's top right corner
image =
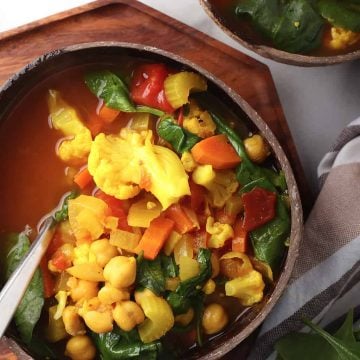
<path id="1" fill-rule="evenodd" d="M 360 2 L 357 0 L 319 0 L 319 12 L 329 23 L 360 32 Z"/>

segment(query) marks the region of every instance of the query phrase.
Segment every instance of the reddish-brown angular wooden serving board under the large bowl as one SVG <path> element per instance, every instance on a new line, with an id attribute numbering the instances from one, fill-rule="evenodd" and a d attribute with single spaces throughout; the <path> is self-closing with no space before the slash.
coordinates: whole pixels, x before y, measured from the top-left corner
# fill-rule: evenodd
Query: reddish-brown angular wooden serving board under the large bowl
<path id="1" fill-rule="evenodd" d="M 312 196 L 269 69 L 142 3 L 99 0 L 0 33 L 0 84 L 46 52 L 92 41 L 125 41 L 162 48 L 223 80 L 248 101 L 278 138 L 292 165 L 305 213 L 309 210 Z M 250 342 L 243 342 L 226 358 L 244 359 Z"/>

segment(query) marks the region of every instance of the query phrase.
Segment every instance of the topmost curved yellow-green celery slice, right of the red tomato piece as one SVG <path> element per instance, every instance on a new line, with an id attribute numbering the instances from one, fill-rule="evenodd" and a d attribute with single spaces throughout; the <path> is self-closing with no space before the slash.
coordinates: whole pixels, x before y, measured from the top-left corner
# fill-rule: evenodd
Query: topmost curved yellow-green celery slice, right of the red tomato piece
<path id="1" fill-rule="evenodd" d="M 164 81 L 167 101 L 174 109 L 189 102 L 191 92 L 206 91 L 206 80 L 199 74 L 182 71 L 169 75 Z"/>

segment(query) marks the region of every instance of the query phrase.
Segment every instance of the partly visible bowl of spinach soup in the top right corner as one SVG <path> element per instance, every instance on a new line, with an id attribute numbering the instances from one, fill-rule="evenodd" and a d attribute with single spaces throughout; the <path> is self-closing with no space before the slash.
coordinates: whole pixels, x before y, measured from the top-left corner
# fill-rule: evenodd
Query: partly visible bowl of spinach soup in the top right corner
<path id="1" fill-rule="evenodd" d="M 360 59 L 358 0 L 200 0 L 230 37 L 286 64 L 319 66 Z"/>

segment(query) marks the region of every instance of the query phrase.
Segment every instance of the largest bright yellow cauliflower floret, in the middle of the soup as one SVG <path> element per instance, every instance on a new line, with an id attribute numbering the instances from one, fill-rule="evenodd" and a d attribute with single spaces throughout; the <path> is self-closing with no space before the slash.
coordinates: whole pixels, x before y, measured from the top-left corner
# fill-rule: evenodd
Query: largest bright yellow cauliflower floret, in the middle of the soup
<path id="1" fill-rule="evenodd" d="M 91 147 L 88 169 L 96 185 L 118 199 L 150 191 L 163 209 L 190 195 L 188 176 L 177 155 L 152 143 L 152 131 L 122 129 L 99 134 Z"/>

